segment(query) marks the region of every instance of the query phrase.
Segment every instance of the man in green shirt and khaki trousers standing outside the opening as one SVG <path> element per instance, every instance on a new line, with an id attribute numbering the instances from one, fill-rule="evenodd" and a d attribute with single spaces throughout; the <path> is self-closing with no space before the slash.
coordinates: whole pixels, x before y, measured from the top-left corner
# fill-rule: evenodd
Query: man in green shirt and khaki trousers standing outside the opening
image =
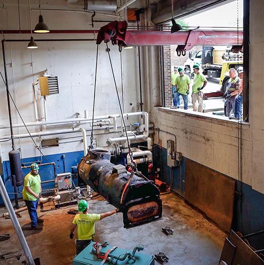
<path id="1" fill-rule="evenodd" d="M 193 66 L 194 80 L 193 80 L 193 93 L 192 93 L 192 103 L 193 111 L 203 112 L 203 94 L 202 89 L 204 89 L 207 84 L 205 76 L 200 73 L 199 64 Z M 197 108 L 198 103 L 198 108 Z"/>

